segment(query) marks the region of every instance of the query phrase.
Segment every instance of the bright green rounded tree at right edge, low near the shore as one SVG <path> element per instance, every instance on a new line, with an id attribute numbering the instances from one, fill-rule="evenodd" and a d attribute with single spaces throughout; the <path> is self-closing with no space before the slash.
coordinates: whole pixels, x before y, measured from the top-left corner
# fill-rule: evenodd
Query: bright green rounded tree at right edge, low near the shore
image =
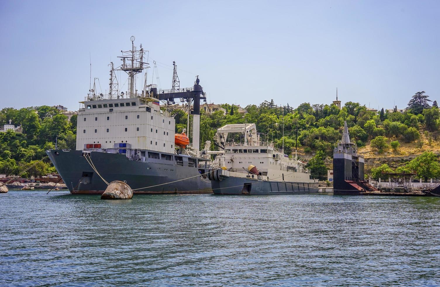
<path id="1" fill-rule="evenodd" d="M 408 168 L 417 174 L 418 178 L 425 181 L 438 178 L 440 175 L 440 164 L 437 156 L 430 151 L 424 152 L 408 163 Z"/>

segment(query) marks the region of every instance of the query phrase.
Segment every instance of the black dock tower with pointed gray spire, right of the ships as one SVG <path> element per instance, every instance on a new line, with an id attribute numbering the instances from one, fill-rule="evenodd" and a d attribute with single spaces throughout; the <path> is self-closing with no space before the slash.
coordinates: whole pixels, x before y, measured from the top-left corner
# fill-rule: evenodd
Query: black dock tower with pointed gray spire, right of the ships
<path id="1" fill-rule="evenodd" d="M 364 158 L 357 153 L 356 143 L 350 140 L 347 122 L 341 141 L 333 152 L 333 190 L 335 195 L 361 195 L 378 191 L 364 179 Z"/>

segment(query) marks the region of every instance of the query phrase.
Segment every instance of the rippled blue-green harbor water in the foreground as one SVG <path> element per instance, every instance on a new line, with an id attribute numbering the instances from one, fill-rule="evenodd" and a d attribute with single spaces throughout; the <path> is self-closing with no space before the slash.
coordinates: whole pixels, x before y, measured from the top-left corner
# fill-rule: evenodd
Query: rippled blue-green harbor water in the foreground
<path id="1" fill-rule="evenodd" d="M 440 198 L 0 194 L 0 285 L 436 286 Z"/>

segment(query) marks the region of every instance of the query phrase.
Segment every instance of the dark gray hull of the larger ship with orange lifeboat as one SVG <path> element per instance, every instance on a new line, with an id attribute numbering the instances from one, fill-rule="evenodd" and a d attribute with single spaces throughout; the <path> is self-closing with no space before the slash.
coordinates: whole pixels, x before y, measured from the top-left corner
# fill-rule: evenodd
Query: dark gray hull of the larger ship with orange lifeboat
<path id="1" fill-rule="evenodd" d="M 107 185 L 96 174 L 81 150 L 46 152 L 72 194 L 103 194 Z M 124 154 L 91 152 L 90 159 L 107 181 L 126 181 L 134 194 L 212 193 L 204 169 L 176 165 L 174 161 L 147 158 L 146 162 L 128 160 Z M 187 179 L 192 177 L 190 179 Z M 176 183 L 171 183 L 180 179 Z M 165 184 L 163 184 L 165 183 Z M 163 185 L 160 185 L 163 184 Z M 160 186 L 156 186 L 160 185 Z M 147 186 L 154 186 L 145 188 Z"/>

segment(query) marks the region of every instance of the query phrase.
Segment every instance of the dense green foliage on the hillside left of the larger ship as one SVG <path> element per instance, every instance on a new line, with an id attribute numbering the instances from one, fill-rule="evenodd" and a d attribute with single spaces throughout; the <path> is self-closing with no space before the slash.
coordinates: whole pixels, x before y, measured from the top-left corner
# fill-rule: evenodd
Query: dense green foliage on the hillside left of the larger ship
<path id="1" fill-rule="evenodd" d="M 18 174 L 54 149 L 58 140 L 59 149 L 74 149 L 76 143 L 76 116 L 70 121 L 49 106 L 29 107 L 16 110 L 3 108 L 0 111 L 0 126 L 9 120 L 21 125 L 22 133 L 8 130 L 0 133 L 0 173 Z M 47 158 L 27 171 L 23 176 L 44 175 L 55 172 Z"/>

